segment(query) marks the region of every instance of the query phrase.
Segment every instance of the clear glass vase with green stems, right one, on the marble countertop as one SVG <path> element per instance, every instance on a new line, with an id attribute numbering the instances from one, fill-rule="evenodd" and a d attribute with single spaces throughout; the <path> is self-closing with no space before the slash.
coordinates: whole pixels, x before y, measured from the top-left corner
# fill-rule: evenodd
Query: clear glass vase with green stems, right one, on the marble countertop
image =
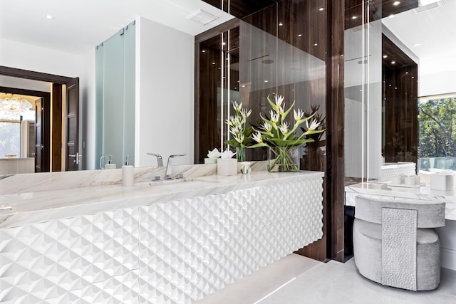
<path id="1" fill-rule="evenodd" d="M 267 169 L 269 172 L 299 171 L 299 147 L 271 147 Z"/>

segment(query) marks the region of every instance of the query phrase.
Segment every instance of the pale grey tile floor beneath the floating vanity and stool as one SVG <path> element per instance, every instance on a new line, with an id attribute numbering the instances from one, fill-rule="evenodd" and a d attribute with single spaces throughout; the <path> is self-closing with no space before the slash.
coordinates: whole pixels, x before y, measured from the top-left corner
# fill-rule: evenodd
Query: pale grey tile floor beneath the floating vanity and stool
<path id="1" fill-rule="evenodd" d="M 195 304 L 455 304 L 456 271 L 442 268 L 440 286 L 413 292 L 363 278 L 353 258 L 346 263 L 291 254 Z"/>

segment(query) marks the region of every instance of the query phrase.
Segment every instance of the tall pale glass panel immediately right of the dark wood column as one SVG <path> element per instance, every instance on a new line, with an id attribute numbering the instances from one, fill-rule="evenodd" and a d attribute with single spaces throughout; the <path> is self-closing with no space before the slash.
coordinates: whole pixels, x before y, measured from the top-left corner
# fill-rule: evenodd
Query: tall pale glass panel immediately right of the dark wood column
<path id="1" fill-rule="evenodd" d="M 346 1 L 344 37 L 346 182 L 363 182 L 381 177 L 383 151 L 380 16 L 381 6 L 378 8 L 371 1 Z"/>

